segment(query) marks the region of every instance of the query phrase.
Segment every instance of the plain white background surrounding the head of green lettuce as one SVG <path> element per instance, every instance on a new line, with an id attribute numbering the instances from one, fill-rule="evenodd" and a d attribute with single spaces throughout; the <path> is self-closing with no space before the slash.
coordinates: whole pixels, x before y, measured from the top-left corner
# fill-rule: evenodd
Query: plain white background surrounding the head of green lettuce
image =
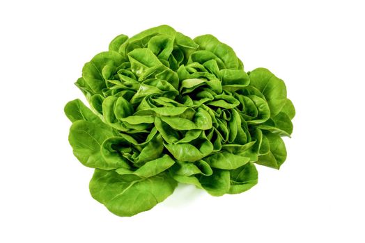
<path id="1" fill-rule="evenodd" d="M 362 1 L 1 1 L 0 242 L 365 242 Z M 88 192 L 63 106 L 81 68 L 129 36 L 169 24 L 226 42 L 245 70 L 284 79 L 297 116 L 279 171 L 248 192 L 178 187 L 117 217 Z"/>

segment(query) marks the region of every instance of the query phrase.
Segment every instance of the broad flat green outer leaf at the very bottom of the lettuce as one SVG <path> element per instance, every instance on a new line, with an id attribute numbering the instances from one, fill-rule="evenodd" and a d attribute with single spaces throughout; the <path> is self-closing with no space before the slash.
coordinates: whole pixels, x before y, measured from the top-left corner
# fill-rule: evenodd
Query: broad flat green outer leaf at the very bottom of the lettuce
<path id="1" fill-rule="evenodd" d="M 176 181 L 166 174 L 127 182 L 115 171 L 95 169 L 89 187 L 93 198 L 104 204 L 110 212 L 130 217 L 164 201 L 173 193 L 176 185 Z"/>

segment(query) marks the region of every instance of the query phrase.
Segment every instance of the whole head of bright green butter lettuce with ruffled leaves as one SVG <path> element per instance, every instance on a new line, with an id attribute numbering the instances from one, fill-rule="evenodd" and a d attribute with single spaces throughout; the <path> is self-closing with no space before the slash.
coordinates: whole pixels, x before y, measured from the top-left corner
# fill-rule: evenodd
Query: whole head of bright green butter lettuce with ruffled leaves
<path id="1" fill-rule="evenodd" d="M 119 216 L 150 210 L 178 183 L 213 196 L 256 185 L 255 164 L 279 169 L 293 131 L 284 81 L 241 60 L 212 35 L 170 26 L 118 35 L 75 83 L 65 106 L 77 159 L 95 168 L 94 199 Z"/>

